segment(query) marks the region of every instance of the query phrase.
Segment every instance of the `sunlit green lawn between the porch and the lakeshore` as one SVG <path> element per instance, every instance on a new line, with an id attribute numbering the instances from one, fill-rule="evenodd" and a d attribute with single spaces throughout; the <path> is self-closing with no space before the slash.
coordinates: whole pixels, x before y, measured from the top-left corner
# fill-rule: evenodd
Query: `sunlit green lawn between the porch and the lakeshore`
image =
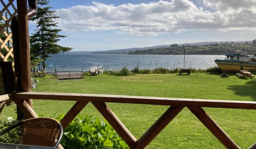
<path id="1" fill-rule="evenodd" d="M 253 79 L 229 78 L 208 73 L 190 75 L 147 74 L 134 76 L 86 76 L 78 80 L 39 78 L 37 92 L 115 94 L 128 96 L 175 97 L 191 99 L 256 101 Z M 34 100 L 37 114 L 65 114 L 75 102 Z M 139 137 L 168 109 L 168 106 L 107 103 L 118 118 Z M 5 116 L 15 116 L 15 106 L 3 110 Z M 204 108 L 219 126 L 241 147 L 248 148 L 256 140 L 256 110 Z M 81 113 L 103 119 L 89 103 Z M 173 121 L 146 147 L 147 149 L 221 149 L 225 148 L 207 128 L 184 108 Z"/>

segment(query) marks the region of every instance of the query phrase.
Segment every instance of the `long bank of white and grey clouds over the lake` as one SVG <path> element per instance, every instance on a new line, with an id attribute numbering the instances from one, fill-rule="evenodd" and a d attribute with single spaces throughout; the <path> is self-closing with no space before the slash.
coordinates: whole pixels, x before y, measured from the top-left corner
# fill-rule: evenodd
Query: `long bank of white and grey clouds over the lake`
<path id="1" fill-rule="evenodd" d="M 56 11 L 63 31 L 107 31 L 137 36 L 157 36 L 189 30 L 256 31 L 255 0 L 159 1 L 119 6 L 92 2 Z M 203 5 L 203 7 L 202 7 Z M 214 11 L 207 11 L 211 8 Z"/>

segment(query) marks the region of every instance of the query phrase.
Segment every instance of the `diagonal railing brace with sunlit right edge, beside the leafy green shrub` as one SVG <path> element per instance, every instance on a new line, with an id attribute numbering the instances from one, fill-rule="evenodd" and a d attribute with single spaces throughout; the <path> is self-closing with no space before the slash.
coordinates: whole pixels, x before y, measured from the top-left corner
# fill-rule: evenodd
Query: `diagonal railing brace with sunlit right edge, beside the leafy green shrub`
<path id="1" fill-rule="evenodd" d="M 117 118 L 115 113 L 104 102 L 92 102 L 102 116 L 109 122 L 109 124 L 117 131 L 119 136 L 126 142 L 126 144 L 132 148 L 136 143 L 136 138 L 133 134 L 123 125 L 123 123 Z"/>

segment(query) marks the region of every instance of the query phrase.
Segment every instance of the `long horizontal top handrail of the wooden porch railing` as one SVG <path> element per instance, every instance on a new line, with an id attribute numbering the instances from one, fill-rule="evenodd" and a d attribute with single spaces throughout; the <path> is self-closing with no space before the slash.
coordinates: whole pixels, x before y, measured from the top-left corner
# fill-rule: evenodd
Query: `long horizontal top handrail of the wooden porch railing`
<path id="1" fill-rule="evenodd" d="M 182 107 L 214 107 L 232 109 L 256 109 L 254 101 L 206 100 L 165 97 L 122 96 L 104 94 L 77 94 L 57 92 L 13 92 L 15 99 L 70 100 L 88 102 L 113 102 L 128 104 L 172 105 Z"/>

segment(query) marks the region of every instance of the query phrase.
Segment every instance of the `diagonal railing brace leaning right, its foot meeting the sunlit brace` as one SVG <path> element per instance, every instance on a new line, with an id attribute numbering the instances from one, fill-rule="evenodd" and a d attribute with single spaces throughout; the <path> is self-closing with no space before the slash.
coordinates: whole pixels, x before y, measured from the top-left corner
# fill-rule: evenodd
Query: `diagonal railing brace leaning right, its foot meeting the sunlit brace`
<path id="1" fill-rule="evenodd" d="M 144 149 L 175 118 L 184 107 L 169 107 L 164 114 L 138 139 L 134 149 Z"/>

